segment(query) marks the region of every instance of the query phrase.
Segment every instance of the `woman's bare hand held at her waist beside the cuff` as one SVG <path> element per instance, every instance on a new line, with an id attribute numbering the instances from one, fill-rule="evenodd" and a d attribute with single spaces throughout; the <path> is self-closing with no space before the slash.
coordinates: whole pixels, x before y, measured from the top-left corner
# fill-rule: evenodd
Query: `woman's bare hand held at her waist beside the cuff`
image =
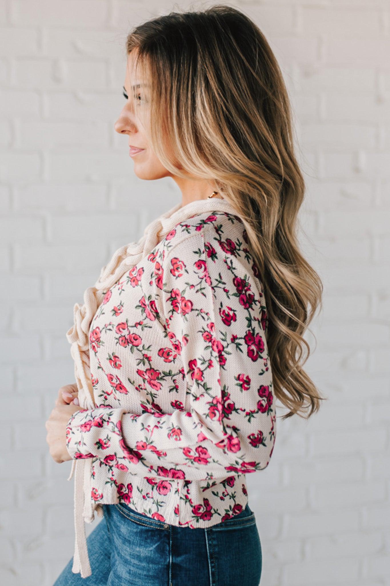
<path id="1" fill-rule="evenodd" d="M 70 396 L 67 396 L 68 393 Z M 80 411 L 81 407 L 76 404 L 69 404 L 71 401 L 78 401 L 77 399 L 77 385 L 67 384 L 58 391 L 56 400 L 56 407 L 50 413 L 49 419 L 46 421 L 45 427 L 47 429 L 46 441 L 49 444 L 49 452 L 54 462 L 62 464 L 71 460 L 66 447 L 66 426 L 67 423 L 75 413 Z M 74 397 L 74 398 L 73 398 Z"/>

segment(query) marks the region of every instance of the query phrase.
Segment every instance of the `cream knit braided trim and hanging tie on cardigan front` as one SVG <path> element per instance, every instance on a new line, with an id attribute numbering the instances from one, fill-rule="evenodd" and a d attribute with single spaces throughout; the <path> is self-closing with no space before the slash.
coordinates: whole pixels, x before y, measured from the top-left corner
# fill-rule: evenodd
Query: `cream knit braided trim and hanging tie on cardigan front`
<path id="1" fill-rule="evenodd" d="M 212 196 L 218 192 L 213 192 Z M 181 207 L 178 203 L 150 222 L 143 236 L 137 242 L 131 242 L 118 248 L 111 261 L 102 268 L 100 277 L 94 287 L 84 292 L 84 305 L 74 305 L 74 325 L 67 332 L 71 344 L 71 356 L 74 359 L 74 374 L 78 388 L 78 401 L 82 409 L 92 410 L 96 407 L 94 390 L 89 368 L 89 328 L 92 319 L 103 298 L 111 287 L 138 264 L 153 248 L 176 226 L 176 224 L 203 212 L 222 211 L 237 214 L 234 207 L 226 200 L 213 198 L 196 200 Z M 75 548 L 73 556 L 73 573 L 81 573 L 82 578 L 92 574 L 89 564 L 85 523 L 92 523 L 95 518 L 91 498 L 92 458 L 74 459 L 68 480 L 74 473 L 74 527 Z M 95 503 L 94 503 L 95 504 Z M 103 516 L 101 505 L 96 505 L 99 517 Z"/>

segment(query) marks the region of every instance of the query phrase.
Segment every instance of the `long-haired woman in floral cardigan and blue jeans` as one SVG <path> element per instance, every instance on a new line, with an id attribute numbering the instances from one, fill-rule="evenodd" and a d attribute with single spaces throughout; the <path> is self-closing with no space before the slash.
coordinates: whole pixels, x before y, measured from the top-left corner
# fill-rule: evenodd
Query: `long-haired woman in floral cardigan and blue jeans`
<path id="1" fill-rule="evenodd" d="M 275 398 L 283 418 L 322 398 L 301 363 L 322 283 L 296 239 L 288 95 L 263 34 L 229 6 L 160 16 L 126 49 L 115 130 L 136 175 L 170 176 L 182 201 L 74 307 L 76 384 L 46 423 L 75 471 L 75 554 L 55 586 L 257 586 L 246 474 L 270 462 Z M 95 510 L 105 522 L 85 540 Z"/>

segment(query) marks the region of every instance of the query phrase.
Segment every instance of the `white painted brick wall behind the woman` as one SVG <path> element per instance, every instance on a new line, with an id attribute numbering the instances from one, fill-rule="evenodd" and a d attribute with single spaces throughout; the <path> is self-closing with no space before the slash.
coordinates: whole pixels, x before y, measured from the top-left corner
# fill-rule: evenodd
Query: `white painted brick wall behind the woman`
<path id="1" fill-rule="evenodd" d="M 389 585 L 390 0 L 233 5 L 264 31 L 284 72 L 308 188 L 300 237 L 325 284 L 306 367 L 329 398 L 309 421 L 279 420 L 270 466 L 248 476 L 261 584 Z M 51 459 L 44 422 L 74 380 L 65 338 L 74 302 L 180 197 L 167 179 L 134 176 L 113 128 L 127 30 L 172 9 L 0 0 L 5 586 L 50 586 L 73 555 L 70 462 Z"/>

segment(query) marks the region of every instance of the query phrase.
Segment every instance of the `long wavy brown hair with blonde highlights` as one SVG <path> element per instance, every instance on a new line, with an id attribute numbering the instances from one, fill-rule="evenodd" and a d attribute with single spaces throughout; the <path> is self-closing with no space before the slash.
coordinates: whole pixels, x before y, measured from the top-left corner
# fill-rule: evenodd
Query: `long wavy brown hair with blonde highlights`
<path id="1" fill-rule="evenodd" d="M 274 53 L 257 25 L 226 5 L 141 23 L 126 39 L 133 50 L 134 70 L 151 84 L 146 132 L 161 163 L 180 177 L 213 179 L 243 220 L 264 288 L 274 392 L 290 410 L 282 419 L 309 418 L 324 397 L 302 368 L 303 334 L 322 309 L 323 284 L 299 251 L 305 182 Z"/>

